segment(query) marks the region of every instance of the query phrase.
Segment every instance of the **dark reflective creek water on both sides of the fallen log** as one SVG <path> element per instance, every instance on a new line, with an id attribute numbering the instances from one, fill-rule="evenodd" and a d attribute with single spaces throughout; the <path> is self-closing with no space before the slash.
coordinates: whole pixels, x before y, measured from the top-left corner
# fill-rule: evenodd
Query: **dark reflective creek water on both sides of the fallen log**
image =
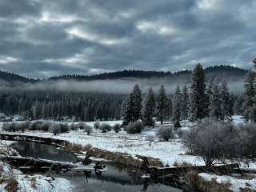
<path id="1" fill-rule="evenodd" d="M 61 162 L 75 162 L 76 156 L 56 146 L 43 145 L 36 142 L 14 142 L 12 148 L 24 157 L 46 158 Z M 66 178 L 74 186 L 75 192 L 176 192 L 181 191 L 160 183 L 142 180 L 137 170 L 118 166 L 116 163 L 106 164 L 108 171 L 97 176 L 94 172 L 86 177 L 83 173 L 68 172 L 51 174 L 53 177 Z M 86 179 L 87 178 L 87 179 Z"/>

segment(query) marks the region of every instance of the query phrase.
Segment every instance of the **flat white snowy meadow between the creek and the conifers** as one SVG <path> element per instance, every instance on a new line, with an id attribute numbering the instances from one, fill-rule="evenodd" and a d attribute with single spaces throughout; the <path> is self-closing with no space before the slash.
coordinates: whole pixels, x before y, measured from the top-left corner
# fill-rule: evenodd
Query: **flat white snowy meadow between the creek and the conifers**
<path id="1" fill-rule="evenodd" d="M 234 116 L 234 123 L 241 123 L 242 118 Z M 86 122 L 90 126 L 94 126 L 94 122 Z M 101 122 L 102 123 L 102 122 Z M 106 122 L 113 126 L 115 123 L 122 123 L 122 121 Z M 166 122 L 164 126 L 170 125 Z M 157 123 L 157 126 L 159 123 Z M 182 130 L 187 130 L 192 125 L 191 122 L 182 122 Z M 186 147 L 183 146 L 180 139 L 174 139 L 170 142 L 159 142 L 158 137 L 154 137 L 154 142 L 149 146 L 149 135 L 156 135 L 158 128 L 143 130 L 141 134 L 126 134 L 125 131 L 114 133 L 111 130 L 108 133 L 101 133 L 100 130 L 93 130 L 90 135 L 87 135 L 83 130 L 71 130 L 68 133 L 58 134 L 54 136 L 52 133 L 42 131 L 26 131 L 26 135 L 35 135 L 40 137 L 53 137 L 81 144 L 86 146 L 97 147 L 102 150 L 109 150 L 112 152 L 122 152 L 130 155 L 143 155 L 151 158 L 159 158 L 164 165 L 173 166 L 174 162 L 189 162 L 195 166 L 205 165 L 202 158 L 194 155 L 186 154 Z M 8 132 L 9 133 L 9 132 Z M 10 133 L 9 133 L 10 134 Z M 15 132 L 14 134 L 18 134 Z"/>

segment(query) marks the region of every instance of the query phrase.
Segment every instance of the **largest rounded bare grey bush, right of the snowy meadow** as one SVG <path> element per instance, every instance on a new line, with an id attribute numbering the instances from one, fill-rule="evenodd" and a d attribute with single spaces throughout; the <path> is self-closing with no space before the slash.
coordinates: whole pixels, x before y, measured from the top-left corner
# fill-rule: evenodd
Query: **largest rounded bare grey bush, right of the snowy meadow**
<path id="1" fill-rule="evenodd" d="M 206 118 L 186 131 L 183 143 L 190 153 L 201 156 L 206 166 L 212 166 L 218 159 L 242 158 L 247 140 L 244 135 L 245 131 L 230 122 Z"/>

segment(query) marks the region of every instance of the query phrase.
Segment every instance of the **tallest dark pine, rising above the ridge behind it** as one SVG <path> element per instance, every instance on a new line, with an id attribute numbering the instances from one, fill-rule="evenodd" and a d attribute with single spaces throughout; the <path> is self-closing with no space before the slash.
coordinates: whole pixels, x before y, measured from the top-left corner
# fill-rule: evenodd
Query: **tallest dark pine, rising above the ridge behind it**
<path id="1" fill-rule="evenodd" d="M 201 64 L 192 72 L 191 86 L 191 118 L 193 121 L 207 117 L 207 96 L 205 74 Z"/>

